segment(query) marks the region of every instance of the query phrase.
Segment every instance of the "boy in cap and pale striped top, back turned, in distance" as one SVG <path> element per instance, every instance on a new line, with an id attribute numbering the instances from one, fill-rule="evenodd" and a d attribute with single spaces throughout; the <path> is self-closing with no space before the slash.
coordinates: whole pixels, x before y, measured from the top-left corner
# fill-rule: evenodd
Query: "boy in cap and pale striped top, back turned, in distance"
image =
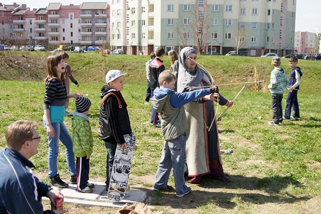
<path id="1" fill-rule="evenodd" d="M 268 122 L 268 124 L 278 126 L 279 123 L 282 123 L 282 99 L 287 79 L 283 68 L 280 67 L 281 58 L 273 57 L 271 65 L 274 66 L 274 69 L 271 72 L 271 83 L 268 88 L 272 95 L 273 121 Z"/>

